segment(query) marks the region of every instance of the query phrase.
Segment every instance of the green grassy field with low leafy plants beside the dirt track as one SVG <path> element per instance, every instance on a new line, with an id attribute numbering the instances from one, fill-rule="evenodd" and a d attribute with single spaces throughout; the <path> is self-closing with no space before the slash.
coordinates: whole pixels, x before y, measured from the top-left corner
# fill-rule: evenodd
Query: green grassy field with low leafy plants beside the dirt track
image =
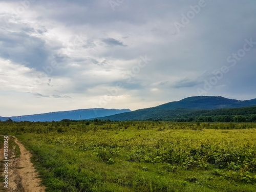
<path id="1" fill-rule="evenodd" d="M 47 191 L 256 191 L 256 123 L 0 122 Z"/>

